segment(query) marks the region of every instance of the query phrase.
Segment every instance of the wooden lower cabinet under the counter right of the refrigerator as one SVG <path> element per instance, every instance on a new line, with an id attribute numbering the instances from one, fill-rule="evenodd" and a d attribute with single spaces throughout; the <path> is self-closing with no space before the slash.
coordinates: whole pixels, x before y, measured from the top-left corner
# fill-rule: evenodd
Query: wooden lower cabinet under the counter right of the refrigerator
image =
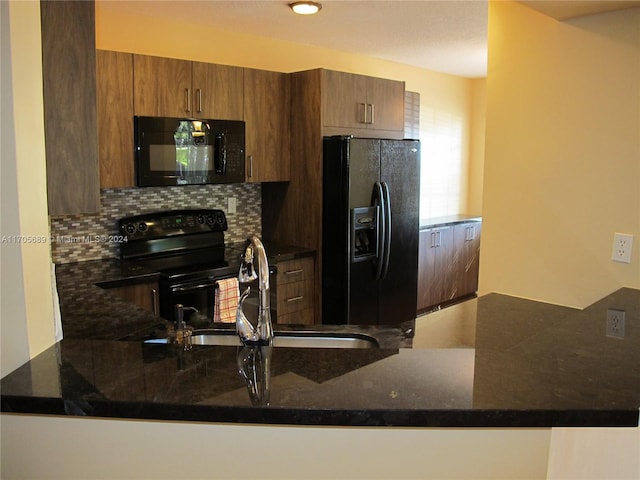
<path id="1" fill-rule="evenodd" d="M 418 312 L 476 293 L 481 228 L 474 221 L 420 232 Z"/>

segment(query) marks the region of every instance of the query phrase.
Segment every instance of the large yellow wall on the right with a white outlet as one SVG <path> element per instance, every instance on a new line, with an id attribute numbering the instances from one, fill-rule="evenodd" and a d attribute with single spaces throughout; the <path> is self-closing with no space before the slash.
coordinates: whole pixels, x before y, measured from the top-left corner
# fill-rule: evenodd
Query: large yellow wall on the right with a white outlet
<path id="1" fill-rule="evenodd" d="M 639 159 L 640 9 L 557 22 L 491 2 L 481 293 L 582 308 L 640 288 Z"/>

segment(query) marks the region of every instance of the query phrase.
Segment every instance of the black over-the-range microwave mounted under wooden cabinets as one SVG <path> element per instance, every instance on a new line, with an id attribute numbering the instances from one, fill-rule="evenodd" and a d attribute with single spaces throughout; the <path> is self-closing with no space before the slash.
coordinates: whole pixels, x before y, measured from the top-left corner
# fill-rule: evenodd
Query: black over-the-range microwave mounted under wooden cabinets
<path id="1" fill-rule="evenodd" d="M 134 117 L 134 136 L 139 187 L 245 180 L 242 121 Z"/>

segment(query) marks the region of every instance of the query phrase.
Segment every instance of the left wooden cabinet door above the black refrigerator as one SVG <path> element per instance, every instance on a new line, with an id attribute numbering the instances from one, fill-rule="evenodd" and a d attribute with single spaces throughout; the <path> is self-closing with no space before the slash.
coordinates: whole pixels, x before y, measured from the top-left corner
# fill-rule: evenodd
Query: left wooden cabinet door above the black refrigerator
<path id="1" fill-rule="evenodd" d="M 365 128 L 367 77 L 333 70 L 323 73 L 324 125 Z"/>

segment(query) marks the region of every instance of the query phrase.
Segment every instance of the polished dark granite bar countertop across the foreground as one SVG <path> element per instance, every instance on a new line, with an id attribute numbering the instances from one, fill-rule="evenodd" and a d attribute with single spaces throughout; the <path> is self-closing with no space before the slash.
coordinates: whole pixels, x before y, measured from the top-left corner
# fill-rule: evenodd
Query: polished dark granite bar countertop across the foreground
<path id="1" fill-rule="evenodd" d="M 59 271 L 61 296 L 76 269 Z M 118 275 L 109 262 L 90 270 Z M 107 297 L 92 300 L 76 304 L 79 318 L 96 315 L 114 330 L 133 324 L 130 305 L 123 318 L 119 306 L 102 303 Z M 72 308 L 77 300 L 64 301 Z M 268 359 L 240 347 L 185 351 L 104 332 L 67 336 L 2 379 L 2 411 L 295 425 L 638 426 L 640 291 L 620 289 L 585 310 L 498 294 L 477 302 L 476 321 L 465 327 L 474 329 L 474 348 L 408 348 L 410 330 L 396 330 L 394 346 L 394 330 L 375 327 L 368 331 L 386 339 L 382 348 L 276 347 Z M 624 311 L 615 332 L 608 309 Z M 239 374 L 243 358 L 257 365 L 258 387 L 269 386 L 268 405 L 255 393 L 264 388 L 251 390 Z"/>

